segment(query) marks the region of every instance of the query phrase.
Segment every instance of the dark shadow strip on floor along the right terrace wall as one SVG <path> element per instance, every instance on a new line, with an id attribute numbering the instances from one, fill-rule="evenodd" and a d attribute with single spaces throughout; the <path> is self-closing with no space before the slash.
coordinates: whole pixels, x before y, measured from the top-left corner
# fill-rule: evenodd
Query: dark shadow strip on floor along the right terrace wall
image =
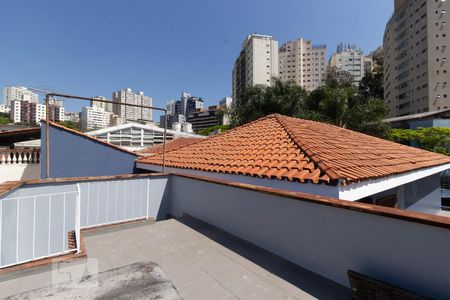
<path id="1" fill-rule="evenodd" d="M 184 215 L 177 221 L 245 257 L 318 299 L 351 299 L 351 290 L 208 223 Z"/>

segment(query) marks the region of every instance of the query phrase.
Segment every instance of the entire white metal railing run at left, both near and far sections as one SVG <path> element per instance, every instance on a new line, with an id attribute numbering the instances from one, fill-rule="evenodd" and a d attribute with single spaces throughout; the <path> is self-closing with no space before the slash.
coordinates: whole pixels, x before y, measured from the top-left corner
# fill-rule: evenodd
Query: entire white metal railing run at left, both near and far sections
<path id="1" fill-rule="evenodd" d="M 166 184 L 143 177 L 19 188 L 0 199 L 0 269 L 79 253 L 84 228 L 156 218 Z"/>

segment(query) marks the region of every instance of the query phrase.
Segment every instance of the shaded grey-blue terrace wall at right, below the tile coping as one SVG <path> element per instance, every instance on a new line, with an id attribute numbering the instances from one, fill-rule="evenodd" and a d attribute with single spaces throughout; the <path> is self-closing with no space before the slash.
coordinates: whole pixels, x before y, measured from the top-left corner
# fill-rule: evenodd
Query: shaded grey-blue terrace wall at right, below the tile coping
<path id="1" fill-rule="evenodd" d="M 171 176 L 171 209 L 349 286 L 347 270 L 450 298 L 450 230 Z"/>

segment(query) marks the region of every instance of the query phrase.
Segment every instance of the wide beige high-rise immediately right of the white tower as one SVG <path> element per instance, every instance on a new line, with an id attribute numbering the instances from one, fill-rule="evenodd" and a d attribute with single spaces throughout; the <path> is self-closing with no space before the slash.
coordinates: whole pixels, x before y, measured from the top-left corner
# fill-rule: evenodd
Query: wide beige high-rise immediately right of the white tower
<path id="1" fill-rule="evenodd" d="M 279 49 L 280 79 L 293 81 L 308 91 L 325 84 L 327 76 L 327 48 L 313 46 L 303 38 L 289 41 Z"/>

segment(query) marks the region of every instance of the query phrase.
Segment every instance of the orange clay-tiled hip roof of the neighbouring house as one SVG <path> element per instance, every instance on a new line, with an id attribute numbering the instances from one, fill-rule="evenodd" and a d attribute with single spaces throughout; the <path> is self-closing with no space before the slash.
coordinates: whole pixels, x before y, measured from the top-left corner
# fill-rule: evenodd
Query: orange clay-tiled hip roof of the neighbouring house
<path id="1" fill-rule="evenodd" d="M 162 165 L 162 155 L 138 162 Z M 167 167 L 333 184 L 447 163 L 441 154 L 278 114 L 166 153 Z"/>

